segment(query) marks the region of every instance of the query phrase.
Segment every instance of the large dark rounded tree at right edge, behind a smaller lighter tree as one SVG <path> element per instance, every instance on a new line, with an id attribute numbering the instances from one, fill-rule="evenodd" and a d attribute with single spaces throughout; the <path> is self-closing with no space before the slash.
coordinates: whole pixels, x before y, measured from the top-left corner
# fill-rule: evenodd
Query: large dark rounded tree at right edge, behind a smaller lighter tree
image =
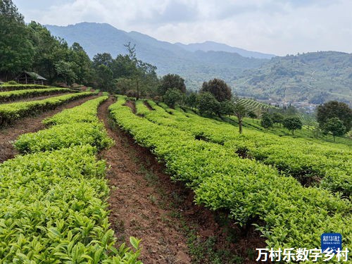
<path id="1" fill-rule="evenodd" d="M 351 130 L 352 127 L 352 109 L 346 103 L 339 101 L 328 101 L 317 108 L 317 120 L 319 126 L 324 127 L 327 120 L 331 118 L 339 118 L 344 123 L 345 132 Z"/>

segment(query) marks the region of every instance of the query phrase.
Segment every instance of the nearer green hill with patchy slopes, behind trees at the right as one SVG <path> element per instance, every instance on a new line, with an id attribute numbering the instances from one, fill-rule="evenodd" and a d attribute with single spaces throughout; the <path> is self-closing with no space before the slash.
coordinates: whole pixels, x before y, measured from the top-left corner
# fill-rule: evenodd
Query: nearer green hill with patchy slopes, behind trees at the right
<path id="1" fill-rule="evenodd" d="M 242 96 L 323 103 L 352 100 L 352 54 L 320 51 L 272 58 L 232 82 Z"/>

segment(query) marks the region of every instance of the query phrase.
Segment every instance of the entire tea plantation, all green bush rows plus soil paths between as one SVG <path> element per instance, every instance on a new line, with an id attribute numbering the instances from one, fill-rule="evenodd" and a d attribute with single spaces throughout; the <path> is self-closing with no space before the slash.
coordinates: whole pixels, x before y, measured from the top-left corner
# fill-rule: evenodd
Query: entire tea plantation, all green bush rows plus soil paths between
<path id="1" fill-rule="evenodd" d="M 0 104 L 0 263 L 256 263 L 325 232 L 351 249 L 350 146 L 30 88 L 0 92 L 36 91 Z"/>

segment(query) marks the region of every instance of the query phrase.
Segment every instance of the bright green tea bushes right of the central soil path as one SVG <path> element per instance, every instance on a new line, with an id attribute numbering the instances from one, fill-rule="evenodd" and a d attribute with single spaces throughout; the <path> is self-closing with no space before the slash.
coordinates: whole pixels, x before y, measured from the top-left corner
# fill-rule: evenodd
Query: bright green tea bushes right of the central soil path
<path id="1" fill-rule="evenodd" d="M 163 161 L 195 201 L 255 225 L 270 247 L 319 248 L 324 232 L 351 247 L 349 146 L 277 137 L 163 108 L 153 101 L 111 106 L 115 121 Z M 151 110 L 153 108 L 153 110 Z"/>

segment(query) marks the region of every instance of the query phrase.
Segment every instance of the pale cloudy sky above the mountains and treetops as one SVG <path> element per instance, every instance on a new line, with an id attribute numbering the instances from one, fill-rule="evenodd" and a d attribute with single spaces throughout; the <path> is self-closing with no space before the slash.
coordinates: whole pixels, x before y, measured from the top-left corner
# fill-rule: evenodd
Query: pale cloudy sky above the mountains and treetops
<path id="1" fill-rule="evenodd" d="M 286 55 L 352 53 L 351 0 L 13 0 L 26 22 L 109 23 L 184 44 L 212 40 Z"/>

